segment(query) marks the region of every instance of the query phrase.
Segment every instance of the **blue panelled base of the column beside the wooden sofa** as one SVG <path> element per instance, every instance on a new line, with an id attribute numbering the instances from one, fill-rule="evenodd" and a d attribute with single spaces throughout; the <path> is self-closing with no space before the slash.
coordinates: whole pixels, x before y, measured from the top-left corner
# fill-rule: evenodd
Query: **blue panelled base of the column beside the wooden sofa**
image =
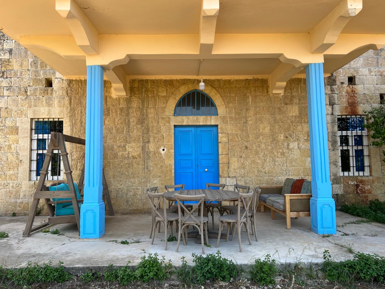
<path id="1" fill-rule="evenodd" d="M 310 198 L 311 230 L 317 234 L 336 234 L 336 207 L 332 197 Z"/>

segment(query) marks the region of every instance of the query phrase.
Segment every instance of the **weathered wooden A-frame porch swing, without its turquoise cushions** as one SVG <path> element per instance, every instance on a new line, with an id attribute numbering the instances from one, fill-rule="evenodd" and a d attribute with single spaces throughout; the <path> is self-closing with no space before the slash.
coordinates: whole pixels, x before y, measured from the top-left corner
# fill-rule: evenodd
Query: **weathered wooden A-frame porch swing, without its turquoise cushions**
<path id="1" fill-rule="evenodd" d="M 40 230 L 49 225 L 55 224 L 65 224 L 65 223 L 76 223 L 78 232 L 80 234 L 80 209 L 79 203 L 83 202 L 84 195 L 84 165 L 82 168 L 82 173 L 80 174 L 80 180 L 78 185 L 78 190 L 80 193 L 80 198 L 78 198 L 78 193 L 75 189 L 74 179 L 72 178 L 72 170 L 70 169 L 68 153 L 65 143 L 74 143 L 85 145 L 85 139 L 76 138 L 74 136 L 69 136 L 62 133 L 51 132 L 51 139 L 48 144 L 47 153 L 45 153 L 45 159 L 40 171 L 40 178 L 37 184 L 35 194 L 33 195 L 33 201 L 31 210 L 28 215 L 27 224 L 23 232 L 23 237 L 29 237 L 32 232 Z M 45 180 L 48 175 L 49 165 L 52 161 L 52 156 L 54 155 L 54 150 L 60 150 L 60 156 L 62 157 L 64 174 L 67 178 L 68 190 L 57 190 L 57 187 L 62 184 L 62 181 L 56 182 L 56 190 L 49 190 L 49 187 L 45 185 Z M 58 161 L 58 171 L 60 170 L 60 160 Z M 114 209 L 112 208 L 112 203 L 110 199 L 110 193 L 107 187 L 107 182 L 105 180 L 104 171 L 103 171 L 103 198 L 106 200 L 110 216 L 114 215 Z M 68 198 L 67 200 L 57 200 L 58 198 Z M 40 225 L 33 227 L 33 221 L 35 220 L 35 215 L 37 208 L 39 206 L 40 199 L 45 200 L 45 204 L 48 208 L 48 221 Z M 69 200 L 70 199 L 70 200 Z M 56 215 L 57 204 L 72 203 L 74 210 L 73 214 L 70 215 Z"/>

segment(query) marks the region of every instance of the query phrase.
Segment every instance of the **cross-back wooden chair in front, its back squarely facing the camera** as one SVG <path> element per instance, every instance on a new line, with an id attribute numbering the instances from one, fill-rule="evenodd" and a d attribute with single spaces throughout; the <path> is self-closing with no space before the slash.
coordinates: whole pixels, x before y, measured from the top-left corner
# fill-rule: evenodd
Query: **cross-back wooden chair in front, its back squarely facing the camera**
<path id="1" fill-rule="evenodd" d="M 196 196 L 184 196 L 175 194 L 174 195 L 177 205 L 178 205 L 178 221 L 179 221 L 179 230 L 178 230 L 178 244 L 176 245 L 176 251 L 178 252 L 179 244 L 181 243 L 181 236 L 183 239 L 183 244 L 187 245 L 187 227 L 194 226 L 198 229 L 198 234 L 201 235 L 201 244 L 202 244 L 202 254 L 204 254 L 204 242 L 203 242 L 203 231 L 206 233 L 206 244 L 209 245 L 209 238 L 207 234 L 207 223 L 209 218 L 203 217 L 203 202 L 206 198 L 205 195 L 196 195 Z M 186 205 L 183 204 L 184 201 L 196 201 L 197 203 L 192 205 L 191 210 L 187 210 Z M 192 213 L 195 210 L 199 210 L 199 215 L 194 216 Z M 182 215 L 182 211 L 185 212 L 185 215 Z"/>

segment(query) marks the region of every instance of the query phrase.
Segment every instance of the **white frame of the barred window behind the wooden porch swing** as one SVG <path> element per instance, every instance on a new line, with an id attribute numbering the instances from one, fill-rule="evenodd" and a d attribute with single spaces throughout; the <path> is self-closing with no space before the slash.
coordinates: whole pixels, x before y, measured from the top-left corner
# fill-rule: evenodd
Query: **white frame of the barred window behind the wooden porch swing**
<path id="1" fill-rule="evenodd" d="M 37 154 L 38 153 L 47 153 L 47 150 L 37 150 L 37 140 L 45 139 L 45 148 L 48 148 L 49 140 L 51 139 L 51 134 L 35 134 L 35 121 L 63 121 L 62 118 L 34 118 L 32 119 L 32 132 L 31 132 L 31 149 L 30 149 L 30 178 L 32 181 L 38 181 L 40 176 L 37 176 Z M 54 150 L 54 153 L 60 153 L 60 150 Z M 33 170 L 33 168 L 35 170 Z M 59 176 L 52 176 L 51 174 L 51 163 L 48 168 L 48 176 L 46 180 L 63 180 L 63 161 L 60 159 L 60 170 Z"/>

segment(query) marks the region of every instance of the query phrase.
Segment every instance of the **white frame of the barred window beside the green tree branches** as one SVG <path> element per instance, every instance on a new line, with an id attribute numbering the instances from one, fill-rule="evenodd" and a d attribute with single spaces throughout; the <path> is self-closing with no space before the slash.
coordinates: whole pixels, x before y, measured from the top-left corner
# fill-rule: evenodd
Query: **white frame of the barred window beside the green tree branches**
<path id="1" fill-rule="evenodd" d="M 366 124 L 366 115 L 338 115 L 337 118 L 363 118 L 364 124 Z M 358 133 L 359 132 L 359 133 Z M 370 166 L 369 166 L 369 141 L 368 141 L 368 131 L 364 128 L 363 131 L 338 131 L 338 159 L 340 163 L 340 176 L 369 176 L 370 175 Z M 354 144 L 354 136 L 362 135 L 362 146 L 355 146 Z M 340 136 L 348 136 L 349 145 L 341 146 Z M 350 170 L 342 171 L 342 163 L 341 163 L 341 150 L 349 150 L 349 158 L 350 158 Z M 353 155 L 353 150 L 363 150 L 363 162 L 364 162 L 364 170 L 356 171 L 356 158 Z M 353 166 L 352 166 L 353 164 Z M 367 164 L 367 165 L 365 165 Z"/>

